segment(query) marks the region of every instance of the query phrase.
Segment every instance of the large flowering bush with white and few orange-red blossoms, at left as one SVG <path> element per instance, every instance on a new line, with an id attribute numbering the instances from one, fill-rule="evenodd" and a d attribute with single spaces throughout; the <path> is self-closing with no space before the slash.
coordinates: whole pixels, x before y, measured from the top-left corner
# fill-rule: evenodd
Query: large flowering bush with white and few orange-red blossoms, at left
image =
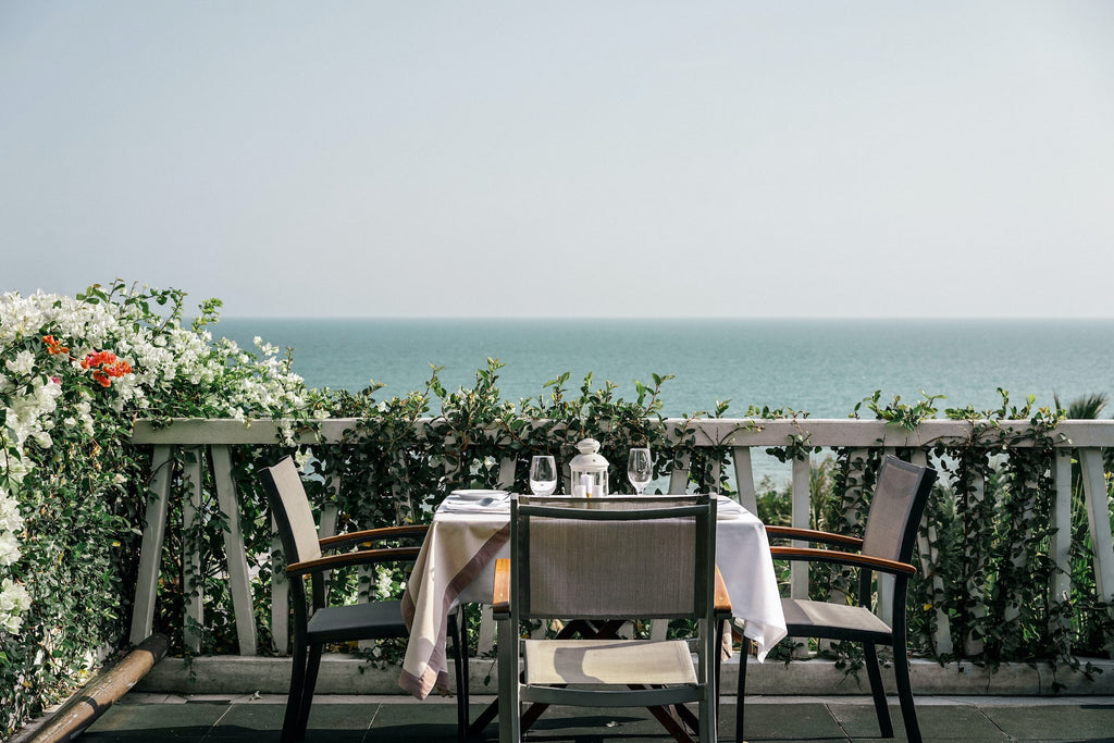
<path id="1" fill-rule="evenodd" d="M 148 467 L 134 418 L 324 414 L 274 346 L 213 341 L 219 302 L 184 326 L 184 299 L 0 295 L 0 739 L 124 634 Z"/>

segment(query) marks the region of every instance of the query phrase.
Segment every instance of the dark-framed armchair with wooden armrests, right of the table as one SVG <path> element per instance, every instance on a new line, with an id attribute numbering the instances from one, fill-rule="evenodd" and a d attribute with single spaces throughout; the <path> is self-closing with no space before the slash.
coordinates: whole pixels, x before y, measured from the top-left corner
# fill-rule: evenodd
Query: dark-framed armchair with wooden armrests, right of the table
<path id="1" fill-rule="evenodd" d="M 878 470 L 878 480 L 862 539 L 811 529 L 766 527 L 766 534 L 771 538 L 791 538 L 842 548 L 771 547 L 774 559 L 821 561 L 858 568 L 858 605 L 783 598 L 785 626 L 790 637 L 862 643 L 874 712 L 883 737 L 893 737 L 893 725 L 886 705 L 886 691 L 882 688 L 876 646 L 892 647 L 893 677 L 906 735 L 911 743 L 919 743 L 921 737 L 917 710 L 913 706 L 912 687 L 909 683 L 909 658 L 906 655 L 906 588 L 909 585 L 909 577 L 917 573 L 917 568 L 909 560 L 917 541 L 917 528 L 935 481 L 936 470 L 888 456 Z M 843 551 L 848 549 L 857 551 Z M 874 573 L 893 576 L 890 624 L 871 610 Z M 743 740 L 745 684 L 744 655 L 739 664 L 739 696 L 735 712 L 736 735 L 740 741 Z"/>

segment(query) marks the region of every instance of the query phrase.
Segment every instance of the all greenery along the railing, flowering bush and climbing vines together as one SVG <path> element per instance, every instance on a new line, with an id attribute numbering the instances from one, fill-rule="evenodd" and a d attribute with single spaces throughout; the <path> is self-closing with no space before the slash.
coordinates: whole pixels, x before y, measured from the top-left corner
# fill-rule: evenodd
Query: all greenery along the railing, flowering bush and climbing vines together
<path id="1" fill-rule="evenodd" d="M 260 343 L 245 351 L 213 341 L 215 300 L 203 303 L 192 325 L 183 327 L 185 294 L 176 290 L 116 282 L 76 299 L 0 299 L 0 507 L 14 498 L 19 509 L 17 518 L 0 508 L 0 554 L 9 554 L 0 560 L 0 579 L 7 581 L 0 587 L 26 590 L 31 599 L 29 608 L 16 606 L 0 622 L 0 736 L 126 646 L 150 477 L 150 451 L 129 443 L 138 417 L 295 421 L 274 444 L 231 448 L 261 652 L 271 646 L 272 558 L 281 556 L 272 555 L 271 518 L 256 473 L 287 452 L 304 465 L 315 508 L 336 514 L 338 531 L 429 521 L 455 488 L 504 483 L 525 491 L 531 456 L 568 462 L 576 442 L 587 437 L 602 443 L 612 462 L 613 491 L 626 488 L 632 447 L 653 451 L 652 488 L 658 492 L 678 469 L 687 469 L 690 491 L 730 493 L 734 488 L 727 439 L 697 447 L 694 426 L 702 418 L 725 418 L 730 401 L 666 422 L 661 411 L 668 374 L 635 381 L 635 398 L 624 400 L 610 381 L 598 384 L 589 374 L 575 385 L 566 372 L 545 382 L 538 395 L 512 403 L 499 391 L 502 364 L 489 360 L 471 388 L 446 389 L 433 368 L 421 390 L 379 399 L 375 383 L 356 393 L 306 390 L 290 373 L 289 356 L 277 358 L 273 348 Z M 108 351 L 133 371 L 113 375 L 106 385 L 94 372 L 107 366 L 81 361 Z M 938 414 L 940 399 L 925 394 L 907 403 L 895 397 L 883 403 L 881 392 L 874 392 L 851 417 L 864 409 L 911 431 Z M 1097 414 L 1104 403 L 1105 398 L 1095 398 L 1076 410 Z M 979 423 L 970 441 L 925 442 L 898 452 L 930 457 L 941 471 L 922 530 L 928 549 L 917 558 L 927 569 L 909 592 L 910 644 L 918 652 L 934 653 L 939 613 L 948 617 L 954 655 L 977 663 L 1058 658 L 1086 669 L 1078 655 L 1112 646 L 1114 619 L 1095 589 L 1082 495 L 1073 505 L 1072 589 L 1049 597 L 1046 588 L 1055 570 L 1048 557 L 1053 447 L 1064 413 L 1033 405 L 1032 398 L 1013 405 L 1001 391 L 997 410 L 948 408 L 945 417 Z M 740 426 L 750 430 L 772 419 L 808 418 L 769 407 L 750 407 L 744 416 Z M 312 432 L 325 417 L 356 422 L 339 443 L 295 443 L 295 433 Z M 1018 440 L 1000 426 L 1012 420 L 1033 427 L 1024 448 L 1012 446 Z M 783 462 L 815 462 L 821 450 L 802 424 L 769 452 Z M 810 480 L 811 525 L 861 535 L 881 448 L 822 453 Z M 182 451 L 169 465 L 175 491 L 185 485 L 195 456 Z M 217 506 L 209 468 L 201 472 L 198 526 L 184 529 L 180 499 L 172 499 L 156 630 L 172 638 L 173 652 L 185 653 L 183 606 L 189 594 L 201 595 L 202 652 L 234 652 L 223 541 L 229 515 Z M 758 501 L 768 524 L 790 521 L 785 488 L 760 483 Z M 187 542 L 199 546 L 192 570 L 182 558 Z M 11 544 L 18 546 L 14 556 Z M 398 597 L 405 578 L 405 567 L 341 571 L 330 590 L 336 600 L 361 594 Z M 810 578 L 814 598 L 851 595 L 857 585 L 852 573 L 831 567 L 814 567 Z M 788 573 L 781 579 L 788 581 Z M 470 618 L 473 629 L 476 620 Z M 388 645 L 374 653 L 380 662 L 394 662 L 401 651 Z M 860 661 L 852 652 L 836 652 L 849 672 L 857 669 Z"/>

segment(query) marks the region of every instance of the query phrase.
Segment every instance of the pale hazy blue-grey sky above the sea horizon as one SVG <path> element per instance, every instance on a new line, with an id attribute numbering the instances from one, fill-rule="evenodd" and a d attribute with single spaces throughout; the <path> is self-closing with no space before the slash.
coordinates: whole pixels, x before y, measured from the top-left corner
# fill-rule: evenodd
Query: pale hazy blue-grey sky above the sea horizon
<path id="1" fill-rule="evenodd" d="M 0 3 L 0 292 L 1114 317 L 1114 2 Z"/>

